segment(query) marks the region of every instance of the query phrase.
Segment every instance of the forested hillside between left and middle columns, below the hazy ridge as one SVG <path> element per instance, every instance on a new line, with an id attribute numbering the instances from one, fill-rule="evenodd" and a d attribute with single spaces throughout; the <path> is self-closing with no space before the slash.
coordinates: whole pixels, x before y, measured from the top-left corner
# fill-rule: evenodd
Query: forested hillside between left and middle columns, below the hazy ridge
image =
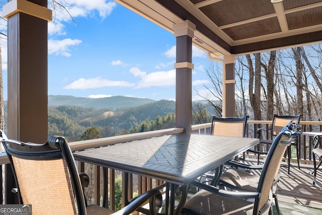
<path id="1" fill-rule="evenodd" d="M 48 136 L 63 135 L 69 141 L 76 141 L 92 126 L 97 127 L 103 137 L 114 136 L 141 121 L 166 116 L 168 113 L 175 113 L 175 102 L 161 100 L 116 110 L 71 105 L 49 106 Z"/>

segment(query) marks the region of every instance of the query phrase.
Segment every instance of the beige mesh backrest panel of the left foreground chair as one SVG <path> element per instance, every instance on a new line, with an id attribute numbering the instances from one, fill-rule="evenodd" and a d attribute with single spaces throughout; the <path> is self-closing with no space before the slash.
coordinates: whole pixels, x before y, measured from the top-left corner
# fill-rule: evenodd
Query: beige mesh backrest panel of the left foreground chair
<path id="1" fill-rule="evenodd" d="M 33 215 L 76 213 L 65 160 L 12 159 L 23 202 L 32 204 Z"/>

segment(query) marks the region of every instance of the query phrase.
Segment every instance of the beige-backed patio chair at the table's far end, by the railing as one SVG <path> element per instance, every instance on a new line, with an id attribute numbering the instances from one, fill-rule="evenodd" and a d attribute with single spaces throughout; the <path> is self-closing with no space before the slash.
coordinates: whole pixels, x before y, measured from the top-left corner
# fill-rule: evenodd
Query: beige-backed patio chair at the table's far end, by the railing
<path id="1" fill-rule="evenodd" d="M 235 117 L 216 117 L 212 116 L 211 120 L 211 135 L 220 135 L 220 136 L 234 136 L 234 137 L 245 137 L 246 136 L 246 125 L 247 119 L 249 116 L 243 118 Z M 241 156 L 236 156 L 234 160 L 239 160 Z M 243 153 L 242 159 L 245 160 L 245 152 Z M 216 168 L 215 173 L 213 171 L 207 172 L 202 177 L 211 178 L 211 185 L 214 185 L 218 182 L 220 173 L 223 170 L 223 166 Z M 201 180 L 201 178 L 200 178 Z"/>

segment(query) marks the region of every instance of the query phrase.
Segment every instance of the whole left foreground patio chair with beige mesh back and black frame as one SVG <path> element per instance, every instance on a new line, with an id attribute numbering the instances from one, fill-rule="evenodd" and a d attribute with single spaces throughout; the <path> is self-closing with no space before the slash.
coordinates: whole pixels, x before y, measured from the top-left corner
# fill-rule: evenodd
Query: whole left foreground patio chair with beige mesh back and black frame
<path id="1" fill-rule="evenodd" d="M 3 131 L 0 134 L 14 172 L 19 203 L 32 204 L 32 214 L 114 212 L 99 205 L 86 205 L 75 161 L 64 137 L 52 136 L 45 144 L 33 144 L 10 140 Z M 150 212 L 155 214 L 155 205 L 161 206 L 162 195 L 153 189 L 130 200 L 117 214 L 130 214 L 147 200 Z"/>

